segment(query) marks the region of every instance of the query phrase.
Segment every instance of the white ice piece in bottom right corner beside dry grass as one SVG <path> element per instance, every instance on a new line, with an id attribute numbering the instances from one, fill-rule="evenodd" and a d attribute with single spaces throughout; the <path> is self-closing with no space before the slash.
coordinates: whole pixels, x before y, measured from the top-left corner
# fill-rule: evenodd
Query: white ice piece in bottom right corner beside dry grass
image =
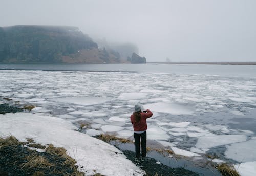
<path id="1" fill-rule="evenodd" d="M 256 175 L 256 161 L 246 162 L 234 165 L 234 168 L 241 176 L 255 176 Z"/>

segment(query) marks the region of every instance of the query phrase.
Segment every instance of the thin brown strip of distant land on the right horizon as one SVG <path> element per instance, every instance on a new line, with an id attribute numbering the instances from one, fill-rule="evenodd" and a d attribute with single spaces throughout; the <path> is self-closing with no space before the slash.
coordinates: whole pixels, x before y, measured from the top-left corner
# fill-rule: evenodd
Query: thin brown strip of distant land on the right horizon
<path id="1" fill-rule="evenodd" d="M 256 62 L 147 62 L 161 64 L 256 65 Z"/>

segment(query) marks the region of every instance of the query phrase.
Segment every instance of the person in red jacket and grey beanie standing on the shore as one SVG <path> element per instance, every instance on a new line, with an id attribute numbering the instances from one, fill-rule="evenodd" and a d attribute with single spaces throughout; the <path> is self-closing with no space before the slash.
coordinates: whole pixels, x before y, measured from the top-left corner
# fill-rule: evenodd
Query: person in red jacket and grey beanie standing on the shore
<path id="1" fill-rule="evenodd" d="M 131 115 L 130 119 L 133 124 L 134 129 L 134 140 L 135 140 L 135 153 L 136 153 L 136 161 L 140 160 L 140 156 L 142 160 L 146 157 L 146 119 L 153 116 L 153 113 L 146 109 L 146 111 L 141 111 L 141 106 L 135 105 L 134 112 Z M 140 144 L 141 144 L 141 155 L 140 155 Z"/>

